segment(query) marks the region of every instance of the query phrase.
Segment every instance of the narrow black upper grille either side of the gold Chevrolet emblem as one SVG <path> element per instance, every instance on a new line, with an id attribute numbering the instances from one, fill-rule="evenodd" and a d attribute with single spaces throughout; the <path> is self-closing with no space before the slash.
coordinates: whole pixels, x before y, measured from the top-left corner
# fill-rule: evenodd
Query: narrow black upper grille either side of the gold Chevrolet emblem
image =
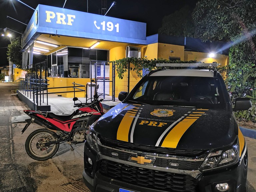
<path id="1" fill-rule="evenodd" d="M 118 156 L 112 155 L 111 154 L 112 152 L 118 153 Z M 107 148 L 104 146 L 100 146 L 100 153 L 105 156 L 113 157 L 116 159 L 121 159 L 124 161 L 127 161 L 131 155 L 131 153 Z M 170 166 L 170 163 L 178 163 L 179 165 L 178 166 Z M 165 167 L 165 168 L 168 167 L 168 168 L 172 168 L 172 169 L 182 169 L 182 170 L 192 171 L 192 170 L 198 170 L 201 163 L 202 163 L 202 161 L 173 160 L 173 159 L 165 159 L 165 158 L 156 157 L 156 160 L 153 165 L 157 166 L 157 167 Z"/>

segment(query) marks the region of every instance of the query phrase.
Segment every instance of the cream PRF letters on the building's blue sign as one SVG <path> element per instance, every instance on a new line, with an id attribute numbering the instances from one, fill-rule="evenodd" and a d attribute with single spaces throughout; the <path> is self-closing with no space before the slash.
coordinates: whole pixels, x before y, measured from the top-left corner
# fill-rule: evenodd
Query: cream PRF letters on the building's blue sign
<path id="1" fill-rule="evenodd" d="M 66 15 L 64 13 L 58 13 L 56 12 L 56 14 L 53 11 L 45 11 L 46 13 L 46 22 L 51 23 L 52 20 L 54 19 L 57 15 L 57 24 L 62 24 L 62 25 L 72 25 L 72 22 L 74 21 L 74 19 L 76 18 L 75 15 L 69 15 L 67 14 L 67 20 L 66 20 Z"/>

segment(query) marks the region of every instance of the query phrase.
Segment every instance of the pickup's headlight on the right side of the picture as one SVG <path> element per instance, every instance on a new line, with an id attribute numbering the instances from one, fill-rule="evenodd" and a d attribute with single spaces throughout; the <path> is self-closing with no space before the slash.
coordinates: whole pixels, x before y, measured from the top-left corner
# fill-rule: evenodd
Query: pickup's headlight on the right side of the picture
<path id="1" fill-rule="evenodd" d="M 239 160 L 239 140 L 230 149 L 211 150 L 201 165 L 202 170 L 214 169 L 219 167 L 236 164 Z"/>

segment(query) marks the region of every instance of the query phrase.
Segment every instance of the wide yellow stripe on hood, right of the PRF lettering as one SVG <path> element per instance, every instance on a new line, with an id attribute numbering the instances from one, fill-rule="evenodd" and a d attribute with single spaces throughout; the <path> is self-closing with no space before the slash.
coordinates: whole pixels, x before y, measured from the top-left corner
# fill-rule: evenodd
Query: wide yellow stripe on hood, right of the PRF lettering
<path id="1" fill-rule="evenodd" d="M 166 136 L 161 147 L 176 148 L 181 137 L 197 119 L 185 118 L 179 122 Z"/>

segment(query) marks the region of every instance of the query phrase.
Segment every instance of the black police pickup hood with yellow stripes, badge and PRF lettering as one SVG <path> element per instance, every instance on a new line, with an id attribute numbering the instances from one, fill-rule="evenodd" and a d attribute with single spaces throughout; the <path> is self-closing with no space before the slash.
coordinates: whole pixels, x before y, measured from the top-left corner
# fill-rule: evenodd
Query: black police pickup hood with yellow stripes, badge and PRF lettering
<path id="1" fill-rule="evenodd" d="M 179 149 L 211 149 L 236 139 L 232 113 L 180 106 L 120 103 L 94 125 L 102 137 Z"/>

